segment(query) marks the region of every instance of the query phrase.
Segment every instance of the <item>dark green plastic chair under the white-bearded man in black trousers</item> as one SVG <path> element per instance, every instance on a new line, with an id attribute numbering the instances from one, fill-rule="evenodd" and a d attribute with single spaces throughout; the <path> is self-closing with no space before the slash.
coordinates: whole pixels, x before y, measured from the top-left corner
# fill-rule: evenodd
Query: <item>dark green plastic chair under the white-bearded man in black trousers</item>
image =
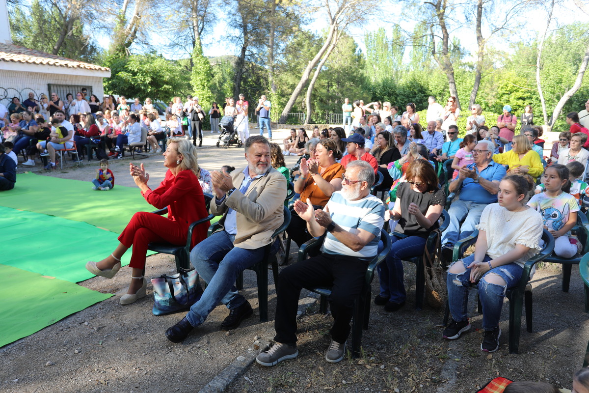
<path id="1" fill-rule="evenodd" d="M 299 248 L 299 262 L 307 259 L 307 253 L 309 250 L 316 249 L 323 244 L 325 235 L 321 237 L 313 237 L 313 239 L 304 243 Z M 362 344 L 362 329 L 368 329 L 368 320 L 370 317 L 370 298 L 372 293 L 372 279 L 374 278 L 374 271 L 376 266 L 383 260 L 386 255 L 391 251 L 391 237 L 386 233 L 385 230 L 380 230 L 380 240 L 382 241 L 384 248 L 378 255 L 376 255 L 369 263 L 366 269 L 366 275 L 364 280 L 364 286 L 360 292 L 360 296 L 354 302 L 354 312 L 352 319 L 352 356 L 353 358 L 360 357 L 360 344 Z M 327 287 L 314 287 L 306 288 L 312 292 L 321 295 L 320 309 L 321 312 L 327 312 L 327 298 L 331 295 L 331 288 Z"/>

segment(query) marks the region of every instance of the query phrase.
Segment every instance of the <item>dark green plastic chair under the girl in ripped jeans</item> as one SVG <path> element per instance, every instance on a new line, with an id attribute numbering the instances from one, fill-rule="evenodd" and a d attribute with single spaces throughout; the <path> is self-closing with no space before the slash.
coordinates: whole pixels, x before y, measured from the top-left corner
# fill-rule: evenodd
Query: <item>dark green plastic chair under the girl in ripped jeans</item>
<path id="1" fill-rule="evenodd" d="M 454 245 L 454 260 L 458 260 L 464 254 L 464 251 L 475 242 L 477 242 L 478 230 L 471 236 L 461 239 Z M 542 240 L 544 240 L 544 250 L 528 260 L 524 265 L 524 272 L 517 286 L 508 288 L 505 297 L 509 299 L 509 353 L 517 354 L 519 352 L 519 336 L 521 335 L 521 313 L 524 306 L 525 297 L 525 321 L 528 332 L 532 332 L 532 286 L 530 282 L 530 273 L 532 267 L 554 250 L 554 237 L 550 232 L 543 230 Z M 479 313 L 482 313 L 481 303 L 478 302 Z M 446 311 L 444 312 L 444 326 L 448 325 L 450 308 L 446 300 Z"/>

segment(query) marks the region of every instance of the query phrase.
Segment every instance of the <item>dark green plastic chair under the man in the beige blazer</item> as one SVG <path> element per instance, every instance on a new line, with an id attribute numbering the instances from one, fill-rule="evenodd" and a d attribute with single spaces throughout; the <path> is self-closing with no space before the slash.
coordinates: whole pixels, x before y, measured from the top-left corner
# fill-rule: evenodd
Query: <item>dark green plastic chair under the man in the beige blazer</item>
<path id="1" fill-rule="evenodd" d="M 260 307 L 260 322 L 268 321 L 268 263 L 272 264 L 272 273 L 274 276 L 274 286 L 278 286 L 278 261 L 275 255 L 270 255 L 272 245 L 276 240 L 276 237 L 286 230 L 286 227 L 290 224 L 290 211 L 286 206 L 283 207 L 284 221 L 282 225 L 274 231 L 272 235 L 272 242 L 264 247 L 264 257 L 260 262 L 256 263 L 252 267 L 248 267 L 247 270 L 253 270 L 256 272 L 257 287 L 258 287 L 258 304 Z M 221 229 L 219 222 L 214 223 L 209 227 L 209 236 L 213 235 L 214 232 Z M 239 272 L 235 286 L 238 290 L 243 289 L 243 272 Z"/>

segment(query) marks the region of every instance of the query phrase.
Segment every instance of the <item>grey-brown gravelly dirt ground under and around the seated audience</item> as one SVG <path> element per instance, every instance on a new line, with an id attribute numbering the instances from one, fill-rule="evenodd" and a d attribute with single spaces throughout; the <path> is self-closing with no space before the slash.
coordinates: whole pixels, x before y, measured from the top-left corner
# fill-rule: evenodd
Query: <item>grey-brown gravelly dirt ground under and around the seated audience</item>
<path id="1" fill-rule="evenodd" d="M 276 133 L 274 139 L 282 141 L 286 133 Z M 216 148 L 215 142 L 216 135 L 206 135 L 206 147 L 198 151 L 201 166 L 209 170 L 219 169 L 223 164 L 244 167 L 242 149 Z M 286 159 L 288 166 L 296 161 L 296 157 Z M 125 158 L 111 164 L 118 185 L 134 186 L 127 176 L 128 161 Z M 148 167 L 151 186 L 163 179 L 161 157 L 136 161 Z M 44 175 L 88 180 L 91 193 L 90 179 L 96 167 L 96 161 L 92 161 L 78 169 Z M 148 257 L 147 266 L 149 278 L 173 272 L 174 262 L 170 256 L 154 255 Z M 589 339 L 578 269 L 573 268 L 568 293 L 560 290 L 558 267 L 538 269 L 532 281 L 533 333 L 526 332 L 524 327 L 519 355 L 508 353 L 506 302 L 501 348 L 488 355 L 479 348 L 481 316 L 475 312 L 474 292 L 469 304 L 473 329 L 458 341 L 445 341 L 441 337 L 442 311 L 427 306 L 423 311 L 414 310 L 415 267 L 405 267 L 408 302 L 396 313 L 372 305 L 370 328 L 363 334 L 362 358 L 346 358 L 339 364 L 325 361 L 332 318 L 321 315 L 317 306 L 312 306 L 299 321 L 299 357 L 273 368 L 254 363 L 227 391 L 475 392 L 497 375 L 570 388 L 572 374 L 583 362 Z M 259 321 L 255 277 L 253 272 L 246 271 L 243 293 L 256 314 L 239 329 L 227 333 L 220 331 L 219 325 L 228 312 L 219 306 L 182 344 L 169 342 L 164 332 L 183 313 L 154 316 L 151 285 L 146 298 L 128 306 L 118 303 L 129 276 L 129 270 L 123 269 L 112 280 L 95 277 L 81 282 L 87 288 L 115 296 L 0 348 L 0 391 L 197 392 L 227 365 L 260 351 L 274 336 L 276 293 L 272 275 L 269 322 Z M 377 286 L 375 278 L 373 295 Z"/>

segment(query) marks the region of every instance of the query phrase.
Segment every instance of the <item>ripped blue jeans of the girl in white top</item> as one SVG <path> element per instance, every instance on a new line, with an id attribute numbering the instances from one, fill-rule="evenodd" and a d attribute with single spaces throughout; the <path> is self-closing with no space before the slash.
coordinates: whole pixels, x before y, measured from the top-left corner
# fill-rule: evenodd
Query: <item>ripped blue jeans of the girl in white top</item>
<path id="1" fill-rule="evenodd" d="M 518 285 L 524 269 L 514 262 L 509 263 L 508 265 L 494 267 L 485 273 L 477 284 L 471 284 L 471 269 L 468 269 L 467 267 L 474 259 L 474 254 L 472 254 L 462 260 L 457 260 L 455 263 L 462 262 L 466 271 L 459 274 L 448 273 L 448 276 L 446 276 L 450 313 L 452 319 L 456 322 L 466 321 L 466 319 L 468 319 L 468 288 L 471 285 L 477 285 L 478 295 L 482 305 L 482 328 L 485 329 L 485 331 L 491 331 L 499 326 L 499 318 L 501 317 L 501 308 L 503 306 L 503 299 L 505 298 L 505 291 L 507 288 L 512 288 Z M 483 262 L 487 262 L 488 260 L 491 260 L 491 257 L 485 255 Z M 454 263 L 452 265 L 454 265 Z M 485 277 L 492 273 L 501 277 L 506 285 L 502 286 L 488 283 L 487 280 L 485 280 Z"/>

